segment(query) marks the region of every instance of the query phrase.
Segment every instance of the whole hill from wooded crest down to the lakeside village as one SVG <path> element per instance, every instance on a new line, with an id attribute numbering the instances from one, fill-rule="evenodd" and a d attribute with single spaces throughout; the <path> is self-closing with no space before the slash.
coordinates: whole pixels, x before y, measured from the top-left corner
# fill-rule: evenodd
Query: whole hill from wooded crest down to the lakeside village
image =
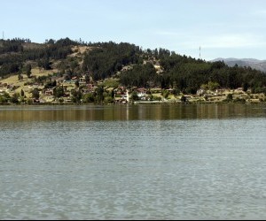
<path id="1" fill-rule="evenodd" d="M 234 91 L 264 101 L 266 74 L 126 42 L 0 40 L 0 103 L 223 101 Z"/>

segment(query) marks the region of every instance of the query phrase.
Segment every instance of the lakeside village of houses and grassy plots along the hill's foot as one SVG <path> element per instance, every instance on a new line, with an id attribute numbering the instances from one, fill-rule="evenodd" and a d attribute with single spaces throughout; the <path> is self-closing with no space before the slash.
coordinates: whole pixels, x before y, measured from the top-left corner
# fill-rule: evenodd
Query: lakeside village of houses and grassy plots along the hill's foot
<path id="1" fill-rule="evenodd" d="M 161 71 L 160 66 L 156 68 Z M 51 84 L 38 83 L 36 79 L 43 76 L 46 76 L 45 79 L 47 78 Z M 58 76 L 55 72 L 34 69 L 30 78 L 23 74 L 20 80 L 18 76 L 0 80 L 0 104 L 263 103 L 266 101 L 263 93 L 252 94 L 250 89 L 245 92 L 243 88 L 209 89 L 205 86 L 199 88 L 196 95 L 184 95 L 181 92 L 176 94 L 174 88 L 126 88 L 121 87 L 115 79 L 93 82 L 87 78 L 90 79 L 90 76 L 75 76 L 66 80 L 66 76 Z M 102 98 L 99 101 L 95 98 L 98 91 L 102 91 Z"/>

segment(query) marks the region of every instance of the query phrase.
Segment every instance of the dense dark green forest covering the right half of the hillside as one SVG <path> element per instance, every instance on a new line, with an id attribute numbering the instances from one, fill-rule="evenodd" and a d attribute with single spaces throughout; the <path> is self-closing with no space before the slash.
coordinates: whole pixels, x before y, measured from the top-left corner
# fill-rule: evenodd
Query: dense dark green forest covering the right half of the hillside
<path id="1" fill-rule="evenodd" d="M 160 56 L 164 72 L 157 74 L 152 65 L 135 65 L 123 72 L 121 83 L 126 86 L 176 88 L 185 94 L 195 94 L 202 85 L 215 82 L 217 88 L 251 88 L 265 93 L 266 74 L 250 67 L 229 67 L 223 62 L 206 62 L 176 53 Z"/>

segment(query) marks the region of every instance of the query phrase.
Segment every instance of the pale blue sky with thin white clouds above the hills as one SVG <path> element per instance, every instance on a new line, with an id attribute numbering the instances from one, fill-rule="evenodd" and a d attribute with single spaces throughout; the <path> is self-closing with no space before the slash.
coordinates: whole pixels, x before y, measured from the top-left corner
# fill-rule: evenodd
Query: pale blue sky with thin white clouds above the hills
<path id="1" fill-rule="evenodd" d="M 129 42 L 200 57 L 266 59 L 265 0 L 0 0 L 4 38 Z M 2 38 L 2 34 L 0 36 Z"/>

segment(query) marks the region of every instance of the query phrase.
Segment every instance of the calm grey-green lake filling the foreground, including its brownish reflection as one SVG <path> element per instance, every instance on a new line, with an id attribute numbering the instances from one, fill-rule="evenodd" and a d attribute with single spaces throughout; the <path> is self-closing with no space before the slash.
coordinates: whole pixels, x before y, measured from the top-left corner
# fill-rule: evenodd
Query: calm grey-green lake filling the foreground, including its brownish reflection
<path id="1" fill-rule="evenodd" d="M 266 219 L 266 105 L 1 106 L 0 219 Z"/>

